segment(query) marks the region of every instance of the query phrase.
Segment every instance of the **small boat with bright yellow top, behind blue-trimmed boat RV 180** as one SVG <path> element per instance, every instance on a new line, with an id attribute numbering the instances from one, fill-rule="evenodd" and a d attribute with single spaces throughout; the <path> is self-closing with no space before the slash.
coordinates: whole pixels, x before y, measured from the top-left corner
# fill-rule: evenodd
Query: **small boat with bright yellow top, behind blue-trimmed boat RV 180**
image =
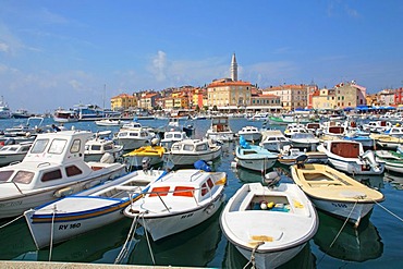
<path id="1" fill-rule="evenodd" d="M 124 161 L 131 169 L 138 169 L 145 166 L 155 166 L 163 161 L 166 148 L 161 146 L 143 146 L 123 155 Z"/>

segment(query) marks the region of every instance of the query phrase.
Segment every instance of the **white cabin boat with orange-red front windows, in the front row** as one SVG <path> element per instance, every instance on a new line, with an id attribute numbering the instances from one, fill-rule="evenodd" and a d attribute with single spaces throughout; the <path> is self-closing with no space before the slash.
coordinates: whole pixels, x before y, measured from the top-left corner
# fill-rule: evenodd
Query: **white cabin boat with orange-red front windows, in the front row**
<path id="1" fill-rule="evenodd" d="M 224 172 L 197 169 L 172 171 L 124 209 L 154 241 L 182 232 L 210 218 L 224 200 Z"/>

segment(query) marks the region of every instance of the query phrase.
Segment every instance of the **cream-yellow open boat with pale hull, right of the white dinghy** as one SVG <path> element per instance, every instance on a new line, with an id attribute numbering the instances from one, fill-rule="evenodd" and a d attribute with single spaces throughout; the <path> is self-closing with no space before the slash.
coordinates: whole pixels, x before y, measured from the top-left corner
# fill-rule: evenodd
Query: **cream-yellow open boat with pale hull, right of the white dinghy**
<path id="1" fill-rule="evenodd" d="M 298 163 L 291 167 L 291 175 L 318 209 L 358 227 L 375 203 L 384 199 L 380 192 L 327 164 L 305 164 L 304 160 L 300 158 Z"/>

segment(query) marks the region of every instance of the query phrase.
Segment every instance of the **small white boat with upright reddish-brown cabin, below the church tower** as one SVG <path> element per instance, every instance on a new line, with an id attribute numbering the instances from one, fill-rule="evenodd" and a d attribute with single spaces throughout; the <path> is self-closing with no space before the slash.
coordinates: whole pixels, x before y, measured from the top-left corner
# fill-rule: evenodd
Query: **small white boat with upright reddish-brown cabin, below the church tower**
<path id="1" fill-rule="evenodd" d="M 230 127 L 228 117 L 211 118 L 210 129 L 206 132 L 206 137 L 216 142 L 232 142 L 234 140 L 234 132 Z"/>

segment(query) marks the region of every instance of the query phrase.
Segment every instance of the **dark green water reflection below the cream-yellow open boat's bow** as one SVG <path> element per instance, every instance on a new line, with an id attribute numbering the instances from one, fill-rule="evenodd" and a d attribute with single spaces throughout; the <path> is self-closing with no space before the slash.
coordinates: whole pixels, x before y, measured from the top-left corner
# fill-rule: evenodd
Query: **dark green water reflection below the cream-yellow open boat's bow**
<path id="1" fill-rule="evenodd" d="M 318 215 L 319 229 L 314 236 L 314 242 L 325 254 L 350 261 L 365 261 L 382 255 L 383 243 L 378 230 L 369 221 L 369 217 L 362 220 L 358 229 L 347 223 L 338 236 L 344 221 L 321 211 L 318 211 Z"/>

